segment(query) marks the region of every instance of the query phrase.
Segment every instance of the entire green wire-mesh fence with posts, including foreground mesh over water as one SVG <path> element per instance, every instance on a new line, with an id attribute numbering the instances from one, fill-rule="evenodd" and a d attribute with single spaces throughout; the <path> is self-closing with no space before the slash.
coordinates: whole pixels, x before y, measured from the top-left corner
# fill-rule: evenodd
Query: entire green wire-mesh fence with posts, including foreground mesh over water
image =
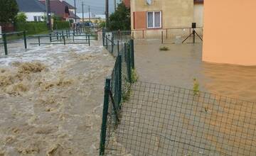
<path id="1" fill-rule="evenodd" d="M 103 40 L 117 60 L 106 80 L 100 155 L 256 155 L 255 103 L 133 83 L 133 42 L 116 39 Z"/>

